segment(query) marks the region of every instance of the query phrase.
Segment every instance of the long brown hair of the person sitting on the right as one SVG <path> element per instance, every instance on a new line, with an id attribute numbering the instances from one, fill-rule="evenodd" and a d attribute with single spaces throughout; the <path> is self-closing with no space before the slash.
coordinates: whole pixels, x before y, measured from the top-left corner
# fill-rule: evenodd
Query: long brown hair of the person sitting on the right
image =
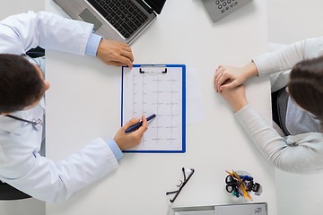
<path id="1" fill-rule="evenodd" d="M 292 99 L 321 120 L 323 128 L 323 56 L 304 60 L 292 68 L 287 84 Z"/>

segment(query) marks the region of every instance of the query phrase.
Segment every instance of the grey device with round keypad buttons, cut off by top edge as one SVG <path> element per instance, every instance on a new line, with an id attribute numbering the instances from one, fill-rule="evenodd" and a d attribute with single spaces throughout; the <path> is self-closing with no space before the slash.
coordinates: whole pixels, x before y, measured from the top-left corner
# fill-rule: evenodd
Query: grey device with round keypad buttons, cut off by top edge
<path id="1" fill-rule="evenodd" d="M 251 0 L 202 0 L 213 22 L 218 22 L 227 14 L 234 12 Z"/>

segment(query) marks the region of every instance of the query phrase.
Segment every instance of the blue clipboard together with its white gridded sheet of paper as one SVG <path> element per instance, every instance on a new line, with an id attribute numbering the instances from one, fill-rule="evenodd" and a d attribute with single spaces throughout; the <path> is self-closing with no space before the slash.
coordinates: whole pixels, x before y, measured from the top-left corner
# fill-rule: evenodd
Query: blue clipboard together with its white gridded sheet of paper
<path id="1" fill-rule="evenodd" d="M 121 126 L 133 117 L 148 122 L 142 142 L 126 153 L 186 151 L 186 65 L 134 64 L 122 67 Z"/>

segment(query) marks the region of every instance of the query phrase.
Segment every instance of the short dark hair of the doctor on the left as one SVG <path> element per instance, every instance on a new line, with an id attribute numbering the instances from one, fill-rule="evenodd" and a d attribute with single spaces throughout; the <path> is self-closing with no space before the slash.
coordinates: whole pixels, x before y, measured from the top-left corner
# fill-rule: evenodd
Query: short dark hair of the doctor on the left
<path id="1" fill-rule="evenodd" d="M 22 110 L 40 99 L 44 82 L 23 56 L 0 54 L 0 113 Z"/>

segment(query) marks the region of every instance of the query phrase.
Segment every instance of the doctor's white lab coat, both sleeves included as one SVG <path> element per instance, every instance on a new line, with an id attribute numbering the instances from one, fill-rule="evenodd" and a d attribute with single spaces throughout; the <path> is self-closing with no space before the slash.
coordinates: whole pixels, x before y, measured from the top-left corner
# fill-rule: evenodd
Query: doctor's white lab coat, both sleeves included
<path id="1" fill-rule="evenodd" d="M 39 46 L 84 55 L 92 29 L 92 24 L 51 13 L 13 15 L 0 22 L 0 53 L 21 55 Z M 44 111 L 42 100 L 13 115 L 31 120 L 42 118 Z M 0 180 L 39 200 L 61 202 L 118 167 L 101 138 L 59 162 L 41 157 L 41 133 L 31 124 L 0 116 Z"/>

